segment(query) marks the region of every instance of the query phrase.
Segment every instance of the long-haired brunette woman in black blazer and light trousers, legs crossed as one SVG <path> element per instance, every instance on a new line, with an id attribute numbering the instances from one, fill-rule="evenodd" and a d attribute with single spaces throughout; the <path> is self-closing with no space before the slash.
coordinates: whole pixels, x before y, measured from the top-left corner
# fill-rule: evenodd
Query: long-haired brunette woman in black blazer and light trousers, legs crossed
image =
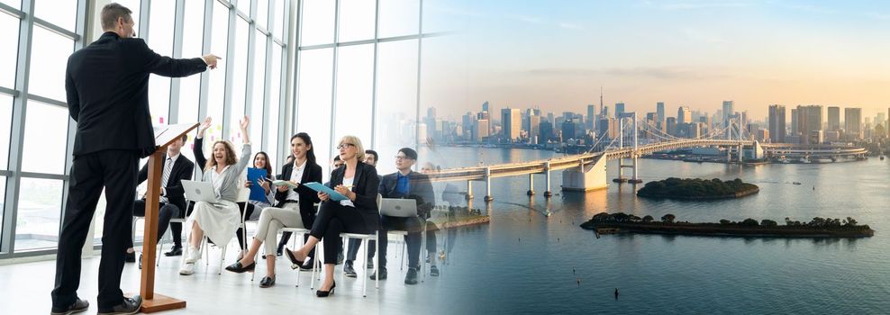
<path id="1" fill-rule="evenodd" d="M 276 207 L 263 209 L 259 214 L 259 227 L 257 234 L 253 236 L 250 250 L 238 262 L 225 270 L 234 273 L 243 273 L 256 268 L 256 257 L 259 246 L 266 243 L 266 273 L 259 281 L 259 287 L 268 288 L 275 285 L 275 249 L 278 230 L 281 228 L 305 228 L 312 226 L 315 220 L 313 204 L 320 202 L 318 193 L 315 193 L 303 183 L 321 182 L 322 166 L 315 162 L 315 150 L 312 138 L 305 132 L 300 132 L 290 139 L 291 152 L 294 154 L 294 162 L 281 166 L 281 179 L 295 185 L 290 188 L 287 185 L 279 185 L 275 195 Z"/>

